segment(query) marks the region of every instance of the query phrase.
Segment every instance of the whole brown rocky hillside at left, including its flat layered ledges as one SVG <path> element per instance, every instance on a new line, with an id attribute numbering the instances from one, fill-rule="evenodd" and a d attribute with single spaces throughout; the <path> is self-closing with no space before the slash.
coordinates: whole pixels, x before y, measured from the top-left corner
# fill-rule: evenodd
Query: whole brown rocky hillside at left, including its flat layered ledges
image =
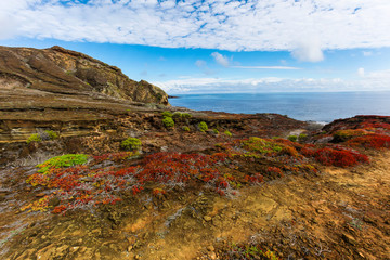
<path id="1" fill-rule="evenodd" d="M 84 135 L 118 115 L 166 106 L 158 87 L 86 54 L 0 47 L 0 143 L 24 142 L 44 129 Z"/>

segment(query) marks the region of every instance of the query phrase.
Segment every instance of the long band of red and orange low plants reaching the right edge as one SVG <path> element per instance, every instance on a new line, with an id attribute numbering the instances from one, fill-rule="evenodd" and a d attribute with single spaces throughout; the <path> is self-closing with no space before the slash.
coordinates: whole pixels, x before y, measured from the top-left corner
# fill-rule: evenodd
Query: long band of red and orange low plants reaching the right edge
<path id="1" fill-rule="evenodd" d="M 359 122 L 359 127 L 369 129 L 338 129 L 334 136 L 344 145 L 365 148 L 390 147 L 390 135 L 386 132 L 390 125 L 379 121 Z M 325 165 L 352 167 L 368 162 L 368 157 L 348 146 L 299 144 L 285 139 L 250 138 L 234 140 L 217 145 L 219 153 L 180 154 L 155 153 L 145 156 L 136 166 L 119 168 L 121 162 L 139 154 L 125 152 L 94 156 L 88 165 L 54 167 L 43 165 L 27 180 L 31 185 L 41 185 L 52 191 L 48 196 L 25 207 L 31 210 L 49 208 L 49 199 L 58 198 L 61 205 L 53 213 L 64 213 L 68 209 L 91 208 L 101 204 L 120 202 L 120 194 L 140 194 L 146 183 L 154 183 L 153 196 L 161 197 L 174 186 L 182 188 L 204 185 L 223 195 L 234 195 L 232 187 L 242 183 L 262 183 L 264 177 L 274 179 L 290 173 L 315 173 L 311 159 Z M 118 162 L 116 167 L 102 168 L 102 161 Z M 41 166 L 41 167 L 43 167 Z M 91 167 L 92 166 L 92 167 Z M 243 172 L 246 174 L 243 177 Z M 261 174 L 261 173 L 263 174 Z M 164 190 L 158 187 L 164 186 Z"/>

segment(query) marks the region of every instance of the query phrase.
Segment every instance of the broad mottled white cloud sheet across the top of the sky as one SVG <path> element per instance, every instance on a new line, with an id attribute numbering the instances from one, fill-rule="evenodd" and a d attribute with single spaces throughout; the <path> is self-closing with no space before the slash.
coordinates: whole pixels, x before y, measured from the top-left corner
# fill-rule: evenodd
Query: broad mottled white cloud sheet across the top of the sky
<path id="1" fill-rule="evenodd" d="M 288 50 L 302 61 L 321 61 L 321 50 L 390 47 L 388 0 L 64 2 L 0 1 L 0 37 L 230 51 Z M 14 18 L 11 24 L 10 17 Z M 313 37 L 321 42 L 313 44 Z M 297 42 L 303 43 L 298 47 Z"/>

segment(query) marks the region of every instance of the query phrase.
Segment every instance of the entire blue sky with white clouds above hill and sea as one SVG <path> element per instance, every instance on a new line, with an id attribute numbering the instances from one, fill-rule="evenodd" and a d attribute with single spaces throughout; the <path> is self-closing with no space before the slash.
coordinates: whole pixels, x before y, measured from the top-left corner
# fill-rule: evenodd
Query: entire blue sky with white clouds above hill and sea
<path id="1" fill-rule="evenodd" d="M 390 90 L 389 13 L 389 0 L 2 0 L 0 46 L 62 46 L 169 94 Z"/>

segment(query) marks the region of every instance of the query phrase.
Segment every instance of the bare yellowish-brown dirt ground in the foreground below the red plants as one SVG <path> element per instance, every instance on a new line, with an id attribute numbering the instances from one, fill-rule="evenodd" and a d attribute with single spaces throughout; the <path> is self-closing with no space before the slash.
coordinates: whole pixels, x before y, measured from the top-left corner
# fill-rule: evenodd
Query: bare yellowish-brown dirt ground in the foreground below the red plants
<path id="1" fill-rule="evenodd" d="M 10 209 L 1 212 L 10 219 L 2 231 L 13 234 L 3 259 L 225 259 L 233 243 L 281 259 L 390 259 L 389 158 L 384 152 L 370 165 L 288 176 L 233 199 L 196 191 L 157 203 L 140 197 L 108 208 L 108 220 L 74 214 L 30 224 L 44 214 Z"/>

